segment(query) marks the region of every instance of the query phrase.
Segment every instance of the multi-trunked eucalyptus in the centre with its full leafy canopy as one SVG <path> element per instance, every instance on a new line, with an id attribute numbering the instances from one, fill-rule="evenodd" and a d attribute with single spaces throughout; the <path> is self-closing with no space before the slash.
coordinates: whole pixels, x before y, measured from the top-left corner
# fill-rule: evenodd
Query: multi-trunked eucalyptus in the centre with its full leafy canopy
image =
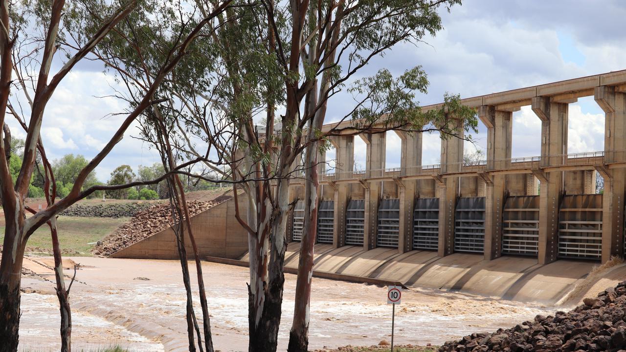
<path id="1" fill-rule="evenodd" d="M 290 349 L 307 346 L 310 276 L 317 217 L 317 150 L 346 133 L 437 130 L 454 138 L 475 130 L 473 110 L 458 96 L 421 111 L 421 68 L 394 78 L 381 70 L 355 80 L 372 58 L 398 43 L 416 43 L 441 29 L 440 7 L 459 1 L 234 1 L 218 27 L 198 41 L 162 91 L 160 108 L 178 116 L 178 145 L 234 183 L 236 217 L 249 232 L 249 350 L 275 351 L 284 287 L 289 182 L 305 153 L 307 220 L 300 249 Z M 203 11 L 207 3 L 197 1 Z M 351 111 L 322 132 L 327 104 L 347 90 Z M 255 122 L 265 120 L 264 126 Z M 349 127 L 341 122 L 350 122 Z M 227 170 L 215 167 L 228 162 Z M 301 168 L 300 168 L 301 169 Z M 196 175 L 197 176 L 197 175 Z M 245 190 L 241 200 L 239 190 Z M 242 204 L 247 213 L 242 214 Z"/>

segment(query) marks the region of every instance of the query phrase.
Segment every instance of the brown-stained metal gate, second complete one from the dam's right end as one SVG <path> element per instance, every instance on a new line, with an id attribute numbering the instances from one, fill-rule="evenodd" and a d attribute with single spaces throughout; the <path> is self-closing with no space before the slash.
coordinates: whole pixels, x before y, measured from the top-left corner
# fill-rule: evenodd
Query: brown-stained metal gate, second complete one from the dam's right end
<path id="1" fill-rule="evenodd" d="M 508 197 L 502 220 L 502 254 L 537 256 L 539 196 Z"/>

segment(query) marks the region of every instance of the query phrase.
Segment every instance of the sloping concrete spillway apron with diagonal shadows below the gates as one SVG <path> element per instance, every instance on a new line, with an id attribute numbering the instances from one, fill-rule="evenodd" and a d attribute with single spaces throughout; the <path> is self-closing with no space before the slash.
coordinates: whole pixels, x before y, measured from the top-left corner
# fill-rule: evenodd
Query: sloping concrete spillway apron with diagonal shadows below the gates
<path id="1" fill-rule="evenodd" d="M 241 261 L 248 261 L 247 254 Z M 298 261 L 299 243 L 294 242 L 287 247 L 285 267 L 297 269 Z M 545 304 L 556 304 L 565 298 L 594 266 L 587 261 L 560 260 L 539 265 L 536 259 L 527 257 L 486 261 L 477 254 L 438 257 L 433 251 L 399 254 L 388 248 L 363 251 L 362 247 L 333 248 L 329 244 L 316 245 L 314 261 L 314 271 L 321 273 Z"/>

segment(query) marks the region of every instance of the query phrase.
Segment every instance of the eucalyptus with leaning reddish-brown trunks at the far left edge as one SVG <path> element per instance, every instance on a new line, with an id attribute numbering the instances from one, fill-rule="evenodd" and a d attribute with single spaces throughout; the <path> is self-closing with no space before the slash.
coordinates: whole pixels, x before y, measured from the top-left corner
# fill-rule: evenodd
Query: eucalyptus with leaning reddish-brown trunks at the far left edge
<path id="1" fill-rule="evenodd" d="M 91 11 L 93 3 L 82 1 L 26 1 L 11 3 L 0 1 L 0 124 L 6 117 L 13 115 L 26 130 L 23 163 L 18 177 L 14 180 L 9 172 L 4 144 L 0 143 L 0 197 L 6 220 L 2 260 L 0 262 L 0 351 L 16 351 L 19 341 L 20 316 L 20 279 L 24 259 L 24 249 L 29 237 L 41 225 L 48 224 L 53 233 L 54 261 L 57 276 L 57 294 L 61 303 L 61 338 L 62 350 L 69 351 L 71 345 L 71 315 L 64 284 L 63 266 L 61 265 L 56 234 L 56 216 L 70 205 L 87 197 L 96 190 L 115 190 L 137 184 L 151 184 L 163 179 L 148 182 L 131 182 L 125 185 L 95 185 L 84 189 L 85 181 L 93 170 L 120 142 L 123 135 L 140 113 L 154 104 L 153 93 L 163 83 L 168 73 L 187 53 L 187 49 L 202 28 L 215 14 L 220 13 L 225 5 L 217 6 L 210 16 L 188 23 L 185 18 L 178 18 L 171 23 L 164 23 L 171 29 L 173 40 L 170 46 L 162 48 L 164 55 L 161 65 L 155 71 L 154 79 L 146 90 L 137 96 L 136 104 L 125 111 L 125 118 L 120 123 L 110 140 L 100 152 L 78 173 L 69 194 L 56 199 L 54 177 L 51 165 L 45 158 L 41 125 L 46 116 L 49 101 L 54 99 L 54 91 L 68 73 L 81 60 L 92 53 L 103 38 L 110 35 L 116 26 L 133 11 L 144 11 L 146 3 L 140 0 L 102 1 L 98 7 L 99 21 L 91 23 L 91 28 L 74 26 L 74 16 L 80 11 Z M 72 35 L 69 35 L 69 34 Z M 75 45 L 66 45 L 71 43 Z M 128 48 L 132 52 L 134 48 Z M 123 57 L 122 57 L 123 58 Z M 28 70 L 24 69 L 24 65 Z M 54 67 L 60 66 L 58 70 Z M 34 75 L 33 75 L 34 72 Z M 28 108 L 20 111 L 16 108 L 16 95 L 28 100 Z M 120 111 L 111 111 L 119 113 Z M 6 140 L 6 135 L 0 135 Z M 26 206 L 26 195 L 33 176 L 37 157 L 44 162 L 46 182 L 44 192 L 47 206 L 39 211 Z M 26 217 L 26 211 L 33 213 Z M 58 254 L 58 255 L 57 255 Z"/>

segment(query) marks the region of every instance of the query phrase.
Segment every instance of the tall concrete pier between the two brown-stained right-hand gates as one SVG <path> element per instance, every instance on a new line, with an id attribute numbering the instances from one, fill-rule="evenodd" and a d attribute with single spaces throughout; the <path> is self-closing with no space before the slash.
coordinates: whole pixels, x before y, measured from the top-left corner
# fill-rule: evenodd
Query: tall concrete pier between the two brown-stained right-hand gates
<path id="1" fill-rule="evenodd" d="M 553 103 L 550 98 L 533 98 L 532 108 L 541 120 L 541 167 L 558 165 L 567 154 L 568 105 Z M 540 180 L 539 195 L 539 264 L 557 260 L 558 210 L 563 194 L 563 172 L 533 170 Z"/>

